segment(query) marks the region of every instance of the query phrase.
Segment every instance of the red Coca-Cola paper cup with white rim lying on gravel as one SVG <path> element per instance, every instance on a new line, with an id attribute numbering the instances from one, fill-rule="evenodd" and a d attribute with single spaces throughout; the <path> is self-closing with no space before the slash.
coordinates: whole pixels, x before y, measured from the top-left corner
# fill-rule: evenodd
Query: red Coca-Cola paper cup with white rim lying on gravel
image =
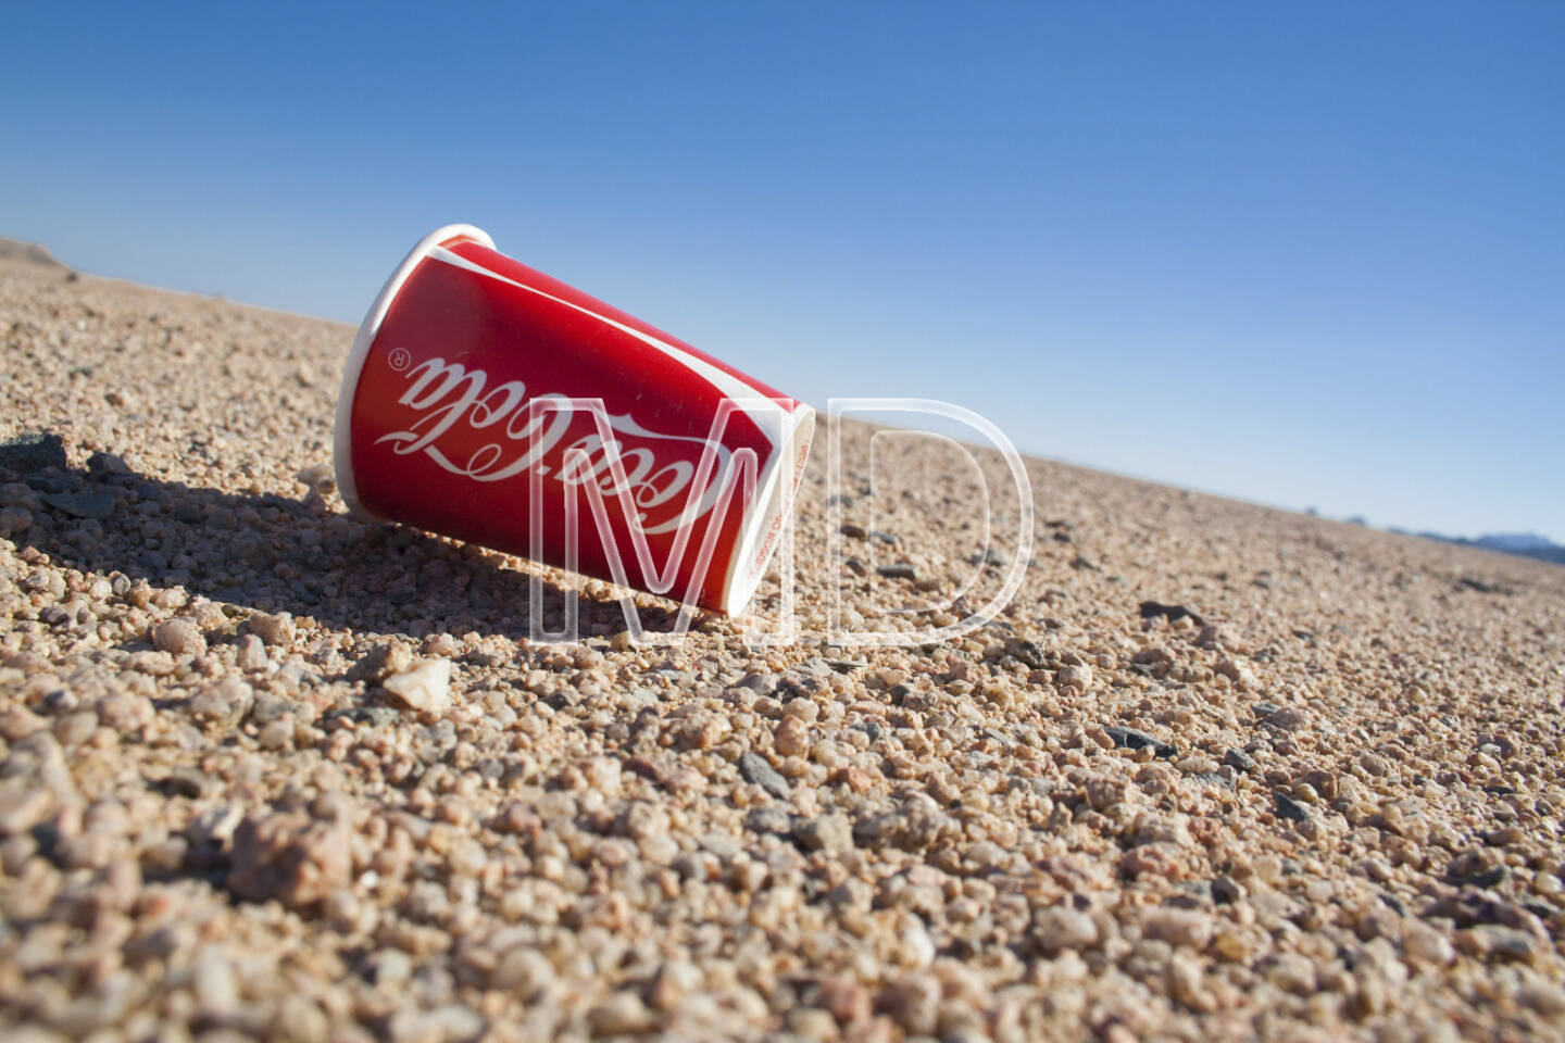
<path id="1" fill-rule="evenodd" d="M 814 416 L 448 225 L 358 328 L 336 483 L 362 518 L 737 613 L 792 511 Z"/>

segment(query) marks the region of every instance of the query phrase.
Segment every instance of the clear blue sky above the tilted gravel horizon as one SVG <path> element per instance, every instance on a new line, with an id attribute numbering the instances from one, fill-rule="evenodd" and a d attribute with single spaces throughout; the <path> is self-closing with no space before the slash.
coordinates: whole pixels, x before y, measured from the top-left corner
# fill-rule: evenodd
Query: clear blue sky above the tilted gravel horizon
<path id="1" fill-rule="evenodd" d="M 0 235 L 85 271 L 357 322 L 468 220 L 817 405 L 1565 543 L 1562 5 L 5 20 Z"/>

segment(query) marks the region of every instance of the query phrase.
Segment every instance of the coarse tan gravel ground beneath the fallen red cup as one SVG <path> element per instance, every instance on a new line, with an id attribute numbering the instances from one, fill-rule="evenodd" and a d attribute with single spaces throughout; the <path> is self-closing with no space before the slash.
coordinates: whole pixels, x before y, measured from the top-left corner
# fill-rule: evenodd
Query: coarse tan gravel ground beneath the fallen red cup
<path id="1" fill-rule="evenodd" d="M 1008 610 L 837 647 L 1003 571 L 853 428 L 804 640 L 635 649 L 343 513 L 351 328 L 13 250 L 0 332 L 8 1038 L 1565 1035 L 1565 569 L 1030 461 Z"/>

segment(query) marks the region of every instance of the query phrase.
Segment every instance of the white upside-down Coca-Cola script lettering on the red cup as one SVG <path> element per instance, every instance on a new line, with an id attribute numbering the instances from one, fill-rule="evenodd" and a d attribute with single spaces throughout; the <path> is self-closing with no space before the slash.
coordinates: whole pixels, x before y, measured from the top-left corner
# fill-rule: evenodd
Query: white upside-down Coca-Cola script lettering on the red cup
<path id="1" fill-rule="evenodd" d="M 560 394 L 529 394 L 521 380 L 490 386 L 482 369 L 443 358 L 404 366 L 402 375 L 407 388 L 398 403 L 413 418 L 376 444 L 399 457 L 423 453 L 473 482 L 529 472 L 570 486 L 592 482 L 610 507 L 628 494 L 635 510 L 628 521 L 657 535 L 707 514 L 729 480 L 732 450 L 718 441 L 720 430 L 709 438 L 664 435 L 629 413 L 609 413 L 598 399 L 588 405 Z M 703 469 L 704 452 L 714 453 L 714 461 Z M 711 477 L 701 494 L 692 496 L 701 471 Z"/>

